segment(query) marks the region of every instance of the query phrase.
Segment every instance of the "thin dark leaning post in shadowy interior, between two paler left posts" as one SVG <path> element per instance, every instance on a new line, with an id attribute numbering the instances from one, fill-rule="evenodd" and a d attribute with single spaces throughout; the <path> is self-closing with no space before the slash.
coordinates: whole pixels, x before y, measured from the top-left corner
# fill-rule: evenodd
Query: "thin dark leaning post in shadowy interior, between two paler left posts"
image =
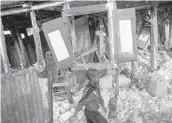
<path id="1" fill-rule="evenodd" d="M 21 64 L 22 64 L 21 68 L 23 69 L 26 66 L 25 50 L 24 50 L 24 45 L 23 45 L 23 41 L 22 41 L 20 32 L 16 26 L 15 26 L 15 32 L 16 32 L 16 36 L 17 36 L 19 46 L 20 46 L 20 52 L 21 52 L 20 56 L 21 56 Z"/>

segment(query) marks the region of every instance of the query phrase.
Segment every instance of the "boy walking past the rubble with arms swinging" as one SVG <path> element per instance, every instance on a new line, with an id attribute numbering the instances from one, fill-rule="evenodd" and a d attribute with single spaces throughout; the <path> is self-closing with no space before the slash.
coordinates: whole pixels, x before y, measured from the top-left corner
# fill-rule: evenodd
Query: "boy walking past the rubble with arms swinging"
<path id="1" fill-rule="evenodd" d="M 108 123 L 98 111 L 99 105 L 101 105 L 103 110 L 107 112 L 99 89 L 99 72 L 96 69 L 88 69 L 86 71 L 86 77 L 89 82 L 83 91 L 83 96 L 76 106 L 73 116 L 69 118 L 69 121 L 74 120 L 77 113 L 85 106 L 84 114 L 87 123 Z"/>

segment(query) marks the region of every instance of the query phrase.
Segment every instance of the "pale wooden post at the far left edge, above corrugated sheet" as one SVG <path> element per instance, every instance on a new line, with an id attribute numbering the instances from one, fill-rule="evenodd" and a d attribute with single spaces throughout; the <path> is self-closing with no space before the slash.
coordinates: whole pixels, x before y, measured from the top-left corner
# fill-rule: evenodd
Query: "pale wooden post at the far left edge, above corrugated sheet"
<path id="1" fill-rule="evenodd" d="M 6 42 L 5 42 L 5 37 L 4 37 L 4 29 L 2 25 L 2 20 L 1 20 L 1 41 L 0 41 L 0 52 L 1 52 L 1 58 L 2 58 L 2 63 L 3 67 L 5 70 L 5 73 L 9 72 L 10 70 L 10 63 L 7 55 L 7 47 L 6 47 Z"/>

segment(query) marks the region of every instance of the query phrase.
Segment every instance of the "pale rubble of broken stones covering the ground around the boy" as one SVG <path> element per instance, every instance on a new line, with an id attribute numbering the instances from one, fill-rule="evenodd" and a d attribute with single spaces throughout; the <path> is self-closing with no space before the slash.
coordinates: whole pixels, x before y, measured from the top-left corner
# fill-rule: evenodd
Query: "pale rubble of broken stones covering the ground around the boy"
<path id="1" fill-rule="evenodd" d="M 138 77 L 138 80 L 143 84 L 142 89 L 138 86 L 123 86 L 119 89 L 115 119 L 108 119 L 108 115 L 104 114 L 100 108 L 100 112 L 109 120 L 109 123 L 172 123 L 172 60 L 167 54 L 165 57 L 167 62 L 161 65 L 161 68 L 155 73 L 148 72 L 147 66 L 140 61 L 135 63 L 135 72 L 142 72 L 142 75 L 135 74 L 135 77 Z M 149 80 L 153 75 L 165 79 L 165 91 L 162 97 L 152 96 L 147 91 L 147 87 L 150 86 Z M 81 96 L 82 90 L 74 96 L 75 104 Z M 103 89 L 102 96 L 105 100 L 105 106 L 108 107 L 112 90 Z M 54 102 L 54 123 L 67 123 L 68 118 L 74 112 L 75 104 L 70 105 L 67 100 Z M 79 112 L 75 123 L 86 123 L 83 111 Z"/>

